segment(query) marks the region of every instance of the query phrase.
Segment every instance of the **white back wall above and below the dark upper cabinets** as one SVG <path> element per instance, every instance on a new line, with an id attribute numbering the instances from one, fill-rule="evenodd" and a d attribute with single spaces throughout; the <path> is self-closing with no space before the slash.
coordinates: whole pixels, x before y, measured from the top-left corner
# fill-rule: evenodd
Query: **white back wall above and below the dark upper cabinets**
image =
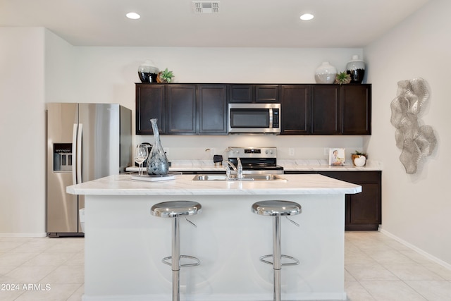
<path id="1" fill-rule="evenodd" d="M 345 70 L 352 54 L 362 49 L 194 48 L 194 47 L 75 47 L 78 101 L 115 102 L 135 109 L 137 67 L 152 59 L 161 70 L 169 68 L 174 82 L 311 83 L 315 69 L 329 61 Z M 135 116 L 132 117 L 135 132 Z M 133 143 L 151 142 L 152 135 L 138 135 Z M 254 136 L 162 136 L 171 159 L 212 159 L 228 146 L 276 145 L 280 159 L 324 158 L 323 147 L 362 150 L 362 137 L 254 137 Z M 288 148 L 295 148 L 295 157 Z M 348 156 L 350 156 L 348 152 Z"/>

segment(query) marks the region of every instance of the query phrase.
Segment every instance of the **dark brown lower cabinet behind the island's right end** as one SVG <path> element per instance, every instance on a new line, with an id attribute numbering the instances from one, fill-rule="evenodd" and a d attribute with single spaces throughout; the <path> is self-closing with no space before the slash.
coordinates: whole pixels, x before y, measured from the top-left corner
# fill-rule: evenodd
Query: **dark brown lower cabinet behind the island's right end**
<path id="1" fill-rule="evenodd" d="M 285 173 L 319 173 L 362 186 L 362 192 L 346 195 L 345 230 L 378 230 L 382 222 L 381 176 L 382 171 L 319 171 Z"/>

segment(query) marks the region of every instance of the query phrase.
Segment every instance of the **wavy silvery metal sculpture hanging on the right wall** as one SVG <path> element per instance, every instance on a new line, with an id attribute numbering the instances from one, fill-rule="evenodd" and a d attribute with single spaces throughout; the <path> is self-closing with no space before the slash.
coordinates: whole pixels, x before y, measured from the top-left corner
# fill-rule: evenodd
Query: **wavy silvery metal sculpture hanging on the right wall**
<path id="1" fill-rule="evenodd" d="M 390 107 L 390 122 L 396 128 L 396 146 L 402 149 L 400 161 L 406 173 L 416 173 L 422 157 L 432 154 L 437 139 L 430 125 L 420 125 L 421 107 L 428 101 L 428 83 L 423 78 L 397 82 L 397 97 Z"/>

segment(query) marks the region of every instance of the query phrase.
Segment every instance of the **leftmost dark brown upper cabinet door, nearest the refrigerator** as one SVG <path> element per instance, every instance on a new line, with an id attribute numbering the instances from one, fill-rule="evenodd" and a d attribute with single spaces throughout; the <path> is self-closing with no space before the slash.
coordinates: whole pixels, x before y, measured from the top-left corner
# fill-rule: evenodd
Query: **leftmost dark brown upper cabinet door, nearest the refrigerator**
<path id="1" fill-rule="evenodd" d="M 153 134 L 151 118 L 157 118 L 160 133 L 166 133 L 164 85 L 136 84 L 136 134 Z"/>

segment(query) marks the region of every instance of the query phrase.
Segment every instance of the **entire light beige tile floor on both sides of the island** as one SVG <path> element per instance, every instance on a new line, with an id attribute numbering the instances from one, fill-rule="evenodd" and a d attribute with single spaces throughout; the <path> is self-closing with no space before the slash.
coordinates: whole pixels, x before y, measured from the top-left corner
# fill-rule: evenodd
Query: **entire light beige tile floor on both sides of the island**
<path id="1" fill-rule="evenodd" d="M 0 300 L 80 301 L 83 238 L 0 238 Z M 350 301 L 451 301 L 451 270 L 376 232 L 345 233 Z"/>

